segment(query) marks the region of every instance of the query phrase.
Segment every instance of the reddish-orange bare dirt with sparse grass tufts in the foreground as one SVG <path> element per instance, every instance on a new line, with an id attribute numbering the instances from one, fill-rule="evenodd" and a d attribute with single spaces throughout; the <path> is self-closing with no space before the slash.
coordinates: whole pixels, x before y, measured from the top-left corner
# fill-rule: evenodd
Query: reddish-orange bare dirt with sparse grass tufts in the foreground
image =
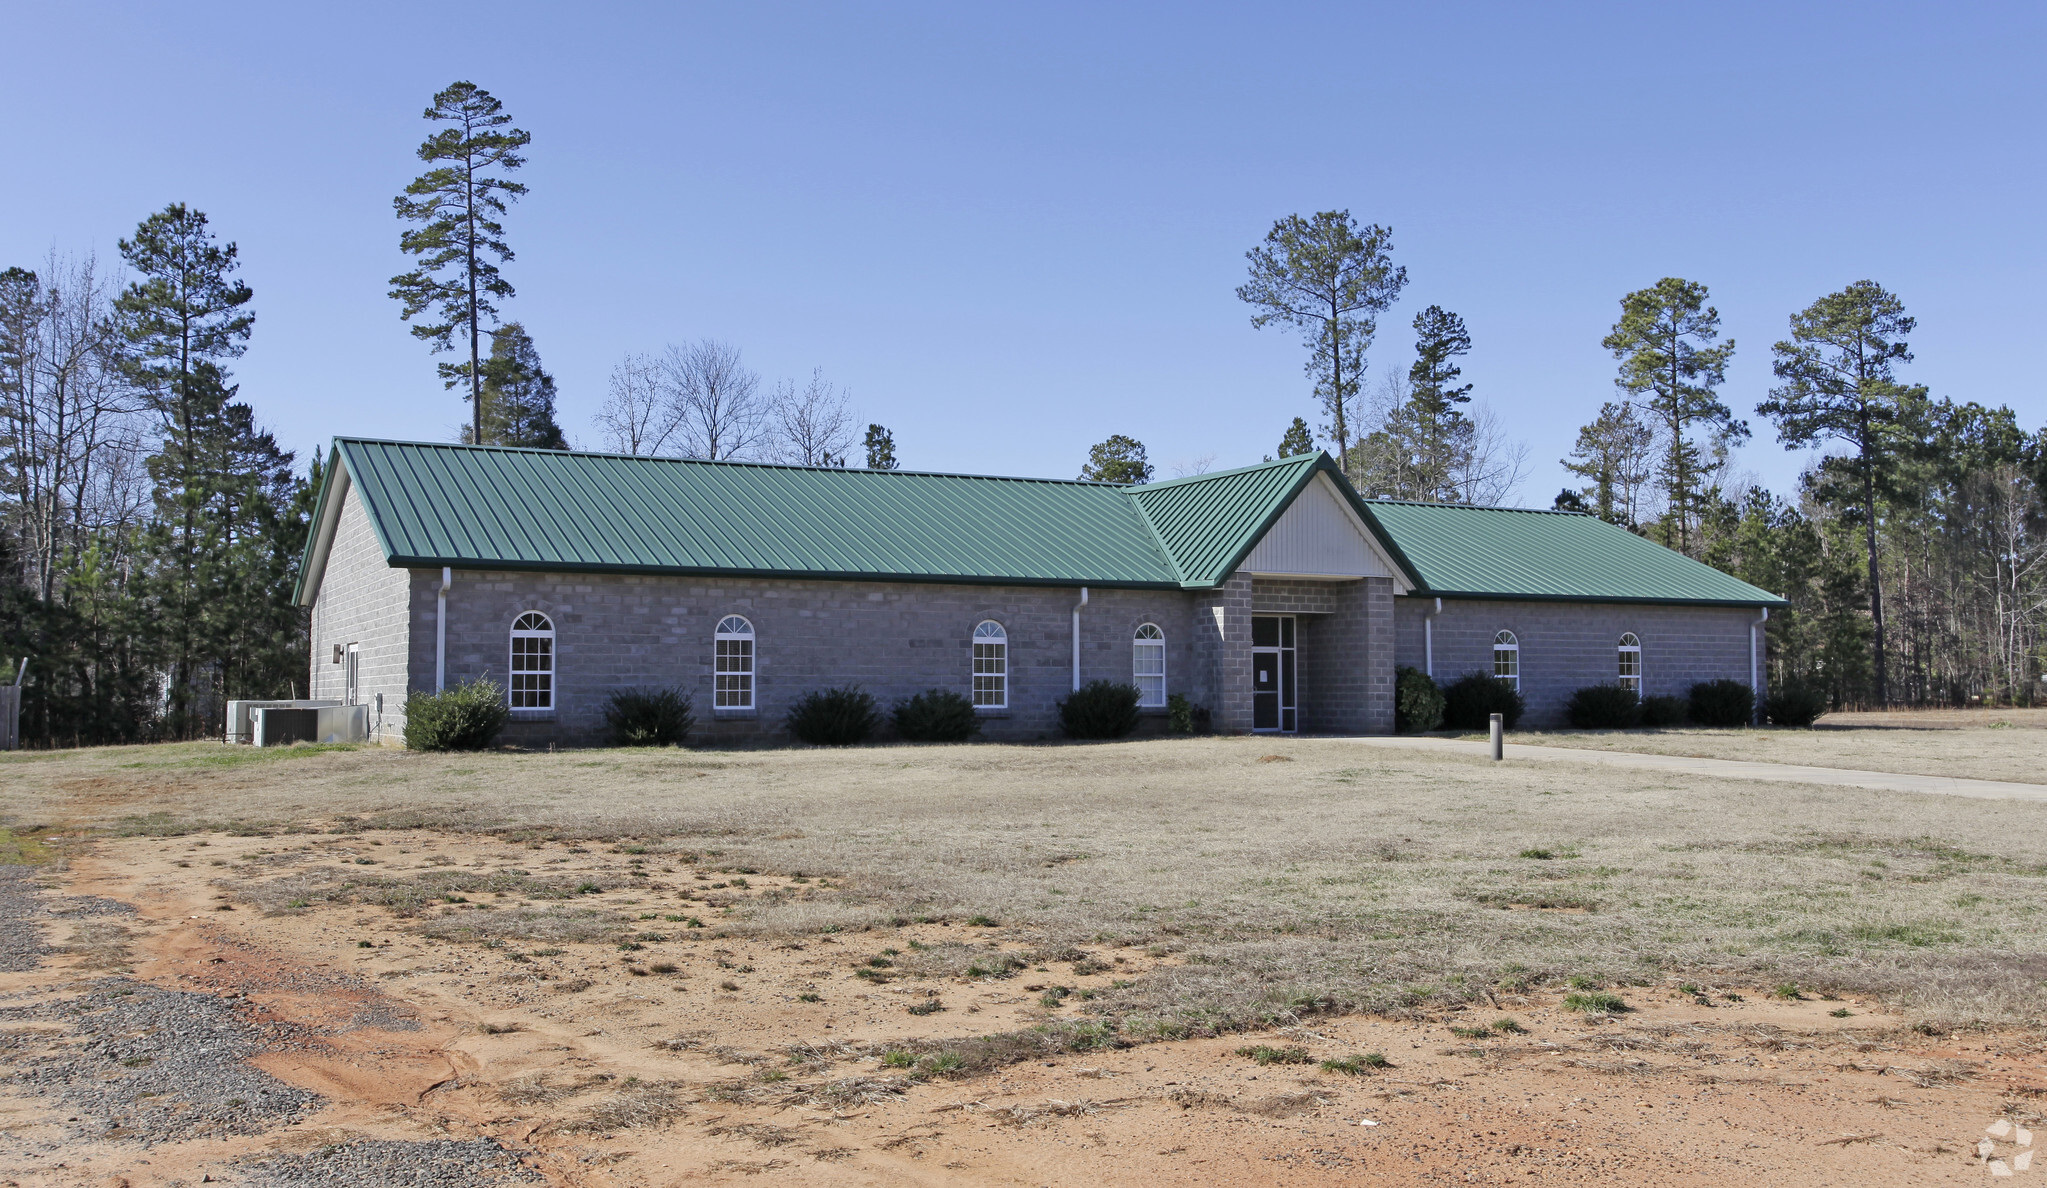
<path id="1" fill-rule="evenodd" d="M 747 930 L 749 905 L 802 903 L 819 881 L 688 858 L 434 832 L 102 842 L 39 895 L 131 905 L 123 932 L 80 940 L 104 920 L 49 916 L 33 969 L 0 973 L 0 1172 L 131 1188 L 375 1188 L 420 1168 L 577 1186 L 1916 1186 L 1979 1182 L 1979 1141 L 2014 1151 L 2014 1131 L 1986 1127 L 2035 1127 L 2047 1100 L 2035 1036 L 1920 1034 L 1861 1002 L 1756 987 L 1609 987 L 1629 1010 L 1591 1016 L 1500 993 L 1433 1018 L 1132 1043 L 1093 1006 L 1171 959 L 1042 952 L 966 922 Z M 63 1014 L 106 979 L 254 1036 L 248 1075 L 289 1088 L 293 1110 L 143 1143 L 94 1127 L 133 1102 L 25 1079 L 141 1075 Z M 162 1043 L 141 1014 L 123 1026 Z"/>

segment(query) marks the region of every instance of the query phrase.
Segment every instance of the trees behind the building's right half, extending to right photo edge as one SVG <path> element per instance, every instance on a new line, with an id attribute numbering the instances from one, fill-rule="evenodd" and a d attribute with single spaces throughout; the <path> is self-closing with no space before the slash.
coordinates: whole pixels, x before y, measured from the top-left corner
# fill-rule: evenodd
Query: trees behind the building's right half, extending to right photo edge
<path id="1" fill-rule="evenodd" d="M 1462 383 L 1472 336 L 1460 315 L 1417 313 L 1412 363 L 1365 395 L 1378 317 L 1406 285 L 1388 227 L 1349 211 L 1290 215 L 1247 260 L 1236 295 L 1255 309 L 1253 328 L 1302 336 L 1320 438 L 1359 492 L 1513 496 L 1527 451 Z M 1582 485 L 1552 506 L 1783 594 L 1791 606 L 1769 625 L 1777 684 L 1818 688 L 1836 707 L 2033 705 L 2047 660 L 2047 430 L 1902 377 L 1914 330 L 1875 281 L 1787 315 L 1754 416 L 1777 444 L 1814 459 L 1779 496 L 1736 469 L 1752 430 L 1722 395 L 1736 344 L 1722 338 L 1709 289 L 1664 277 L 1625 293 L 1599 342 L 1615 360 L 1613 399 L 1560 459 Z M 1277 457 L 1312 449 L 1316 430 L 1296 416 Z M 1144 447 L 1109 438 L 1085 477 L 1148 479 Z"/>

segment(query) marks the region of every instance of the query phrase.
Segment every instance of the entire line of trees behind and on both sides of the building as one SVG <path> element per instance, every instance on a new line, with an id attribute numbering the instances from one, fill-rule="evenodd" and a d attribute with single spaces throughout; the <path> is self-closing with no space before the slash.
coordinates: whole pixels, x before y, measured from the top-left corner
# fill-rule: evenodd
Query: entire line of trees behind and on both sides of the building
<path id="1" fill-rule="evenodd" d="M 397 195 L 411 268 L 391 297 L 469 404 L 459 438 L 567 449 L 555 379 L 516 297 L 504 219 L 532 137 L 459 82 L 426 109 L 426 170 Z M 119 240 L 121 266 L 51 254 L 0 272 L 0 680 L 27 657 L 23 737 L 96 744 L 199 737 L 227 698 L 305 692 L 307 621 L 293 604 L 323 459 L 276 444 L 239 399 L 254 293 L 235 244 L 180 203 Z M 1277 457 L 1333 447 L 1367 496 L 1492 504 L 1527 449 L 1460 360 L 1472 334 L 1431 305 L 1412 360 L 1367 387 L 1378 320 L 1406 285 L 1392 231 L 1347 211 L 1279 219 L 1236 295 L 1253 328 L 1306 348 L 1320 424 L 1294 416 Z M 1601 516 L 1756 586 L 1773 617 L 1771 676 L 1836 705 L 2033 703 L 2047 606 L 2041 483 L 2047 436 L 2010 408 L 1932 397 L 1900 369 L 1914 320 L 1859 281 L 1789 315 L 1756 404 L 1785 449 L 1822 449 L 1777 496 L 1736 469 L 1750 426 L 1722 397 L 1736 344 L 1705 285 L 1627 293 L 1601 340 L 1615 395 L 1578 432 L 1558 510 Z M 628 455 L 897 469 L 895 434 L 823 371 L 764 387 L 718 340 L 624 356 L 596 416 Z M 1179 473 L 1200 473 L 1200 459 Z M 1157 477 L 1126 434 L 1081 477 Z"/>

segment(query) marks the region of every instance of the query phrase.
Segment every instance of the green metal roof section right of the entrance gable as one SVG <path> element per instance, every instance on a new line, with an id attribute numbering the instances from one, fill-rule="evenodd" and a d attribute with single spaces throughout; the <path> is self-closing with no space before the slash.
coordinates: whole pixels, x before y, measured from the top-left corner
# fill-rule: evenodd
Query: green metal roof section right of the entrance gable
<path id="1" fill-rule="evenodd" d="M 1443 598 L 1687 602 L 1785 600 L 1578 512 L 1365 500 L 1425 590 Z"/>

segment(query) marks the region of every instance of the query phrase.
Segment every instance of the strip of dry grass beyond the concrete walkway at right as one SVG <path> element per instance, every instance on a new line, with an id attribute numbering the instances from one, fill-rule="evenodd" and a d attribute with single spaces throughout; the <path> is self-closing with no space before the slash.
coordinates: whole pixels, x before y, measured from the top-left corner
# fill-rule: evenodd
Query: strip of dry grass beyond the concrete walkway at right
<path id="1" fill-rule="evenodd" d="M 1478 737 L 1478 735 L 1472 735 Z M 1818 729 L 1545 731 L 1515 741 L 1713 760 L 2047 782 L 2047 709 L 1838 713 Z"/>

